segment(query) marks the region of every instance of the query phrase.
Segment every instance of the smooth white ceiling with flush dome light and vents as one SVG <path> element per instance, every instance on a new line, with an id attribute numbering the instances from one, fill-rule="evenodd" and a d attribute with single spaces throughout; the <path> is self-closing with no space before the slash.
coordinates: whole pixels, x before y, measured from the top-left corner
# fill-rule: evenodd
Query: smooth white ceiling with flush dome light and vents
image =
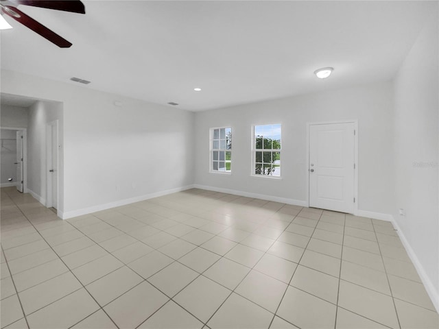
<path id="1" fill-rule="evenodd" d="M 83 1 L 86 14 L 21 5 L 73 43 L 9 17 L 1 68 L 206 110 L 390 80 L 437 1 Z M 318 80 L 313 71 L 333 66 Z M 202 88 L 194 92 L 193 88 Z"/>

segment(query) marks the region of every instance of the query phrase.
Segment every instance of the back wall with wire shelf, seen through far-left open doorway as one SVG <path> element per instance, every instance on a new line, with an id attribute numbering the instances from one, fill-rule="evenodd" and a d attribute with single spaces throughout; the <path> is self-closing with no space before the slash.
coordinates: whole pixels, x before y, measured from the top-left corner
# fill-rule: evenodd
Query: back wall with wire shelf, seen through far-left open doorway
<path id="1" fill-rule="evenodd" d="M 16 184 L 16 132 L 16 130 L 9 129 L 2 129 L 0 131 L 1 186 L 12 186 Z M 8 181 L 9 178 L 12 178 L 12 182 Z"/>

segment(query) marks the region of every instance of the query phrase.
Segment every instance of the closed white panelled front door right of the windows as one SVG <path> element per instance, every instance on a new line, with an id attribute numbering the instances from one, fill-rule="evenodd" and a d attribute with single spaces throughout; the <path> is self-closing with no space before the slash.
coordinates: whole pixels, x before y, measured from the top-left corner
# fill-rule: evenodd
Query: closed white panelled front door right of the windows
<path id="1" fill-rule="evenodd" d="M 309 126 L 309 206 L 353 213 L 355 123 Z"/>

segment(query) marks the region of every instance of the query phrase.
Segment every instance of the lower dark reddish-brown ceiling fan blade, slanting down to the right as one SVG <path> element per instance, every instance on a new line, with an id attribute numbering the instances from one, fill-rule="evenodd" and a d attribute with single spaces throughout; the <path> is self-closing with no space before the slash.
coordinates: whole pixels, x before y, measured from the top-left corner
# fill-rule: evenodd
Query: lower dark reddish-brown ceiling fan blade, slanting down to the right
<path id="1" fill-rule="evenodd" d="M 29 27 L 29 29 L 32 29 L 32 31 L 40 34 L 40 36 L 43 36 L 43 38 L 46 38 L 60 48 L 69 48 L 72 45 L 71 42 L 62 38 L 62 36 L 58 36 L 58 34 L 51 31 L 51 29 L 48 29 L 43 24 L 38 23 L 37 21 L 32 19 L 32 17 L 29 17 L 24 12 L 21 12 L 21 10 L 18 10 L 9 5 L 2 5 L 1 10 L 3 11 L 3 13 L 12 17 L 12 19 Z"/>

